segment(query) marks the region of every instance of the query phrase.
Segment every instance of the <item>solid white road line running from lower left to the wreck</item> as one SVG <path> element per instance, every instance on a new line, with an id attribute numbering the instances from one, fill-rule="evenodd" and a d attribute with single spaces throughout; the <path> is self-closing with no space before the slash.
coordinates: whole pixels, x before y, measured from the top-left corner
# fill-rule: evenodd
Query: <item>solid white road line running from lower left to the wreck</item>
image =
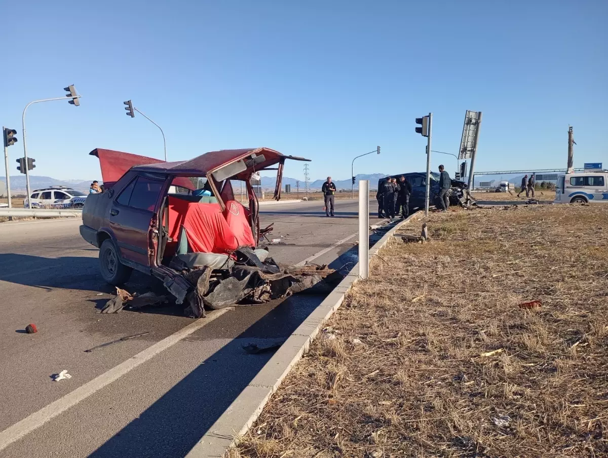
<path id="1" fill-rule="evenodd" d="M 67 393 L 63 398 L 59 398 L 57 401 L 50 403 L 48 406 L 38 410 L 38 412 L 34 412 L 32 415 L 29 415 L 29 417 L 18 421 L 15 425 L 9 426 L 9 428 L 0 432 L 0 451 L 230 310 L 233 310 L 233 308 L 228 307 L 209 312 L 206 318 L 201 318 L 190 323 L 178 332 L 165 337 L 165 339 L 162 339 L 160 342 L 156 342 L 156 344 L 151 347 L 140 351 L 125 362 L 111 368 L 108 372 L 86 382 L 83 386 L 78 387 L 71 393 Z"/>

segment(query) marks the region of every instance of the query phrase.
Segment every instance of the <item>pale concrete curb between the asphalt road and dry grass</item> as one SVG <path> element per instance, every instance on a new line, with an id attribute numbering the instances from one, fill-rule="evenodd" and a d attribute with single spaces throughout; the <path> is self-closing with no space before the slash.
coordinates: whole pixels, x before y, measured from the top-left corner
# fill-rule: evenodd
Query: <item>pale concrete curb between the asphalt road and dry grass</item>
<path id="1" fill-rule="evenodd" d="M 410 220 L 420 218 L 424 213 L 419 211 L 399 222 L 388 230 L 378 242 L 370 248 L 371 256 L 376 255 L 384 245 L 393 238 L 393 234 Z M 226 450 L 238 442 L 238 438 L 251 428 L 264 406 L 302 355 L 308 351 L 310 343 L 319 334 L 325 323 L 336 311 L 344 295 L 359 280 L 359 263 L 357 263 L 338 286 L 323 300 L 320 305 L 302 322 L 264 365 L 245 389 L 232 401 L 221 417 L 213 423 L 209 431 L 187 454 L 188 458 L 223 457 Z"/>

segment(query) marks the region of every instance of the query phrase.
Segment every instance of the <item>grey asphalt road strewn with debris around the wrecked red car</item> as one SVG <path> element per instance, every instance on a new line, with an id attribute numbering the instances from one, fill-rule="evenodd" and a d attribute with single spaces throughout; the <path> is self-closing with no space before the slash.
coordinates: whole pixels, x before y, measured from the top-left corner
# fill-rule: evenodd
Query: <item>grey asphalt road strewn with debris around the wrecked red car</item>
<path id="1" fill-rule="evenodd" d="M 322 205 L 261 206 L 262 227 L 275 222 L 271 238 L 283 241 L 271 246 L 276 261 L 356 262 L 348 249 L 357 239 L 357 202 L 336 201 L 332 219 Z M 184 456 L 271 356 L 242 345 L 288 336 L 322 301 L 299 295 L 200 320 L 168 306 L 98 314 L 113 288 L 78 225 L 0 224 L 0 457 Z M 140 273 L 126 286 L 163 292 Z M 38 333 L 24 333 L 28 323 Z M 71 379 L 51 380 L 64 369 Z"/>

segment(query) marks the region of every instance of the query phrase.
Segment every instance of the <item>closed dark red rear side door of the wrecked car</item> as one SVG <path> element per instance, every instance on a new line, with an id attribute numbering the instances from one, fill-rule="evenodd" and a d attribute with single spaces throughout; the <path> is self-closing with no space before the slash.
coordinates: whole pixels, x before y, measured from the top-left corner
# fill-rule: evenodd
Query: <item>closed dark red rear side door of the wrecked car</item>
<path id="1" fill-rule="evenodd" d="M 110 228 L 123 259 L 150 266 L 150 226 L 165 180 L 166 175 L 139 174 L 112 201 Z"/>

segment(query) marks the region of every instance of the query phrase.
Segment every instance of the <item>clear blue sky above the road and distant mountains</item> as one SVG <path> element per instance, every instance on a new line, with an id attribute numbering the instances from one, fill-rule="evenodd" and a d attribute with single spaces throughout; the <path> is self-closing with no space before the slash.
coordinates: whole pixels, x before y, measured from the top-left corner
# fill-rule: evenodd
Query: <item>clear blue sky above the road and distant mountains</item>
<path id="1" fill-rule="evenodd" d="M 79 4 L 80 3 L 80 4 Z M 32 105 L 35 175 L 100 177 L 95 147 L 169 160 L 268 146 L 311 158 L 311 178 L 418 171 L 433 149 L 457 152 L 466 110 L 483 111 L 480 171 L 608 163 L 608 2 L 105 1 L 13 2 L 0 28 L 2 124 Z M 5 18 L 6 19 L 6 18 Z M 12 56 L 12 57 L 11 57 Z M 7 63 L 12 66 L 7 67 Z M 455 158 L 435 154 L 434 169 Z M 4 170 L 0 172 L 4 174 Z M 302 163 L 285 175 L 303 178 Z"/>

